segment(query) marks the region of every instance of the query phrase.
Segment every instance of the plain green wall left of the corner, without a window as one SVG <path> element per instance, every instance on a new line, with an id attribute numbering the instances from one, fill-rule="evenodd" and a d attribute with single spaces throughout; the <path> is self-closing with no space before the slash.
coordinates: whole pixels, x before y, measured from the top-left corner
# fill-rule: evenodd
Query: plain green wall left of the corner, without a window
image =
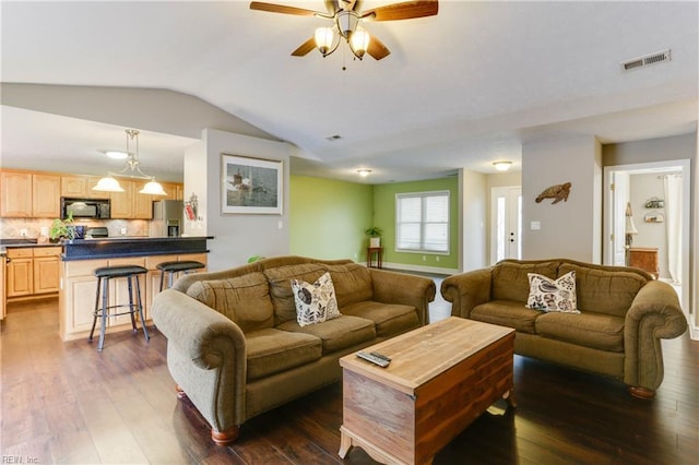
<path id="1" fill-rule="evenodd" d="M 316 259 L 366 261 L 370 184 L 291 176 L 289 251 Z"/>

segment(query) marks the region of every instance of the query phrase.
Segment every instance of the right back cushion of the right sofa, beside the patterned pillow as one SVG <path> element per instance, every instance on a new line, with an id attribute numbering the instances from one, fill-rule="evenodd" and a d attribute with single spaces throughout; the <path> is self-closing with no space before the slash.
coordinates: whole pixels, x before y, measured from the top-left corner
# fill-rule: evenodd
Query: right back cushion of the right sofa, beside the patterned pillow
<path id="1" fill-rule="evenodd" d="M 641 275 L 626 271 L 607 271 L 596 267 L 562 263 L 561 275 L 576 272 L 578 309 L 583 313 L 608 313 L 624 317 L 633 298 L 647 283 Z"/>

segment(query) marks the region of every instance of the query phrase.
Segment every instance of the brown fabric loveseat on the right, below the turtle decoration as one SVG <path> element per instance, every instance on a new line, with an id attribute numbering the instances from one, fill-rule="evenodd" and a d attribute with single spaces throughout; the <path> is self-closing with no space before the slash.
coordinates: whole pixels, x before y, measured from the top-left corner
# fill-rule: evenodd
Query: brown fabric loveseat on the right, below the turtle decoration
<path id="1" fill-rule="evenodd" d="M 576 272 L 580 313 L 525 307 L 528 273 L 558 278 Z M 517 354 L 616 378 L 652 397 L 663 381 L 661 338 L 682 335 L 687 321 L 677 294 L 639 269 L 566 259 L 503 260 L 446 278 L 451 314 L 517 330 Z"/>

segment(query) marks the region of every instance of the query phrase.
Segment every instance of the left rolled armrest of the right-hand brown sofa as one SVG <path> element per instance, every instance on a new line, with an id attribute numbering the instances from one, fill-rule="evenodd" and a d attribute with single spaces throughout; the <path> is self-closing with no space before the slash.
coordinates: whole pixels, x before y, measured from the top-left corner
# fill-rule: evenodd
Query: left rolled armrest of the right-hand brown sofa
<path id="1" fill-rule="evenodd" d="M 441 282 L 441 296 L 451 302 L 452 317 L 470 318 L 474 307 L 490 300 L 491 270 L 455 274 Z"/>

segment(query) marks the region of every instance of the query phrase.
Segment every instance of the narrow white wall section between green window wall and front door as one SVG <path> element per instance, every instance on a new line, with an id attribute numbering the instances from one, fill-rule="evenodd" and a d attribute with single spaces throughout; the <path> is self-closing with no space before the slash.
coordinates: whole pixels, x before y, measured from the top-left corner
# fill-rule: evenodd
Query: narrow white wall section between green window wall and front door
<path id="1" fill-rule="evenodd" d="M 487 266 L 487 175 L 461 170 L 461 211 L 462 225 L 462 266 L 463 271 L 477 270 Z"/>

